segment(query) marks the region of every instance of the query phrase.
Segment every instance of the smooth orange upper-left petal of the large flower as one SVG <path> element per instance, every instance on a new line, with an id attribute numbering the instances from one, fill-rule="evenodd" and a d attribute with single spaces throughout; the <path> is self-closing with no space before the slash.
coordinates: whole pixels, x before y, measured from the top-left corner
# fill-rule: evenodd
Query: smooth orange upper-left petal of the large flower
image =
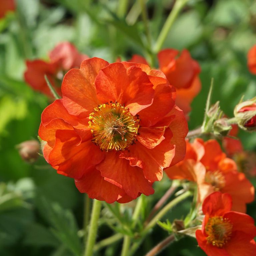
<path id="1" fill-rule="evenodd" d="M 95 78 L 108 62 L 91 58 L 80 69 L 71 69 L 62 82 L 63 105 L 72 115 L 87 117 L 101 102 L 97 99 Z"/>

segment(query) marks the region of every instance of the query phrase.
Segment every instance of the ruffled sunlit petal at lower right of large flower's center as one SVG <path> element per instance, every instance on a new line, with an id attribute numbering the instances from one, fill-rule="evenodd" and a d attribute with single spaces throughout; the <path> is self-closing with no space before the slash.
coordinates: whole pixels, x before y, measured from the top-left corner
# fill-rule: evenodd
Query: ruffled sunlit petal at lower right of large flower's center
<path id="1" fill-rule="evenodd" d="M 129 150 L 123 151 L 120 157 L 129 159 L 132 166 L 141 167 L 150 182 L 159 181 L 163 177 L 163 169 L 169 167 L 175 154 L 175 146 L 170 143 L 172 133 L 169 128 L 166 129 L 164 137 L 165 139 L 153 149 L 136 143 L 130 146 Z"/>

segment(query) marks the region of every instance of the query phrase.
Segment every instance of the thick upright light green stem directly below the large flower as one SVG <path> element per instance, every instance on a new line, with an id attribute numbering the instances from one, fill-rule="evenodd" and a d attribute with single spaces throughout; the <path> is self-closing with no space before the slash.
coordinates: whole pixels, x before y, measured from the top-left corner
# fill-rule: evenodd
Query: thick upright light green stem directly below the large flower
<path id="1" fill-rule="evenodd" d="M 100 217 L 100 210 L 101 210 L 101 201 L 94 199 L 92 213 L 91 213 L 90 229 L 89 229 L 84 256 L 92 256 L 93 254 L 93 247 L 95 244 L 97 230 L 98 230 L 98 220 Z"/>

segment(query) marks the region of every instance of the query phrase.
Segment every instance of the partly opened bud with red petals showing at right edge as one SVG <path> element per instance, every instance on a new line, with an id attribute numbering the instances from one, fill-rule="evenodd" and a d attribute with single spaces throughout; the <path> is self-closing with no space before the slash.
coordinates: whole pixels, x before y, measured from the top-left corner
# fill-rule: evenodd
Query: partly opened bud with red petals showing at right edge
<path id="1" fill-rule="evenodd" d="M 241 102 L 234 109 L 238 126 L 246 131 L 256 130 L 256 97 Z"/>

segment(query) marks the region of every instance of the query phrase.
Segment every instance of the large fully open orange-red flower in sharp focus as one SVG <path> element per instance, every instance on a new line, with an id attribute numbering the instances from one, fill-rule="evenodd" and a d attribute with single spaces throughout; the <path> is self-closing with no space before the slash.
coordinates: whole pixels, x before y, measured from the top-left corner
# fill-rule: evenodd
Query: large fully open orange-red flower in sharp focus
<path id="1" fill-rule="evenodd" d="M 65 75 L 62 94 L 42 113 L 43 154 L 90 198 L 153 194 L 163 169 L 184 158 L 187 122 L 161 71 L 91 58 Z"/>

